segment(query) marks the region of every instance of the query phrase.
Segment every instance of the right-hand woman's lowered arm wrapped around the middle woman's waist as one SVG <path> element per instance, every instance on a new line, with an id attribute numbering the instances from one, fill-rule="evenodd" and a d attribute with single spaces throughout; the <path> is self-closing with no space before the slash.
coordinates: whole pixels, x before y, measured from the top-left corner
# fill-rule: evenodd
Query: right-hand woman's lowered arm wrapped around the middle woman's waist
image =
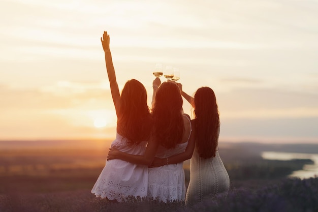
<path id="1" fill-rule="evenodd" d="M 191 121 L 192 125 L 194 126 L 193 120 Z M 176 164 L 180 163 L 182 161 L 186 161 L 190 159 L 193 155 L 193 151 L 195 149 L 196 139 L 195 139 L 195 128 L 192 129 L 189 143 L 185 148 L 185 151 L 183 153 L 180 153 L 178 155 L 174 155 L 167 158 L 154 158 L 152 164 L 149 167 L 158 167 L 158 166 L 164 166 L 168 164 Z"/>

